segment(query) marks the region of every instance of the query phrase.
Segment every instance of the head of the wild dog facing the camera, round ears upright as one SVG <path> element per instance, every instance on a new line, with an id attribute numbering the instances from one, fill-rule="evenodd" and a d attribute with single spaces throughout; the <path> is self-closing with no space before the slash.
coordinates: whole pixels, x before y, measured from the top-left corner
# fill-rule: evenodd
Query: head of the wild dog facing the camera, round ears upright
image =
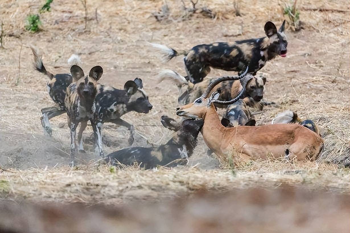
<path id="1" fill-rule="evenodd" d="M 79 97 L 93 100 L 97 94 L 97 81 L 103 74 L 100 66 L 92 67 L 89 75 L 84 76 L 84 71 L 79 66 L 73 65 L 70 68 L 73 80 L 77 82 L 77 92 Z"/>

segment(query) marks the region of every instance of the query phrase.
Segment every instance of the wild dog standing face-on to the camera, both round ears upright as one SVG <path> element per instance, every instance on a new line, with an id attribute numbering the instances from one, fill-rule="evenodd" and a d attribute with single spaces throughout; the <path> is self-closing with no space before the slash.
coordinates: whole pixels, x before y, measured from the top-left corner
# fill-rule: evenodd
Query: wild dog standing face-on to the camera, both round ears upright
<path id="1" fill-rule="evenodd" d="M 65 107 L 68 115 L 68 125 L 70 127 L 70 156 L 71 166 L 75 164 L 76 155 L 76 129 L 79 122 L 90 121 L 92 125 L 93 134 L 97 143 L 97 149 L 100 157 L 104 157 L 102 151 L 101 135 L 97 129 L 97 111 L 95 97 L 97 94 L 97 81 L 103 74 L 103 69 L 100 66 L 95 66 L 90 70 L 88 76 L 84 76 L 82 68 L 79 66 L 72 66 L 70 69 L 73 80 L 68 86 L 65 96 Z"/>

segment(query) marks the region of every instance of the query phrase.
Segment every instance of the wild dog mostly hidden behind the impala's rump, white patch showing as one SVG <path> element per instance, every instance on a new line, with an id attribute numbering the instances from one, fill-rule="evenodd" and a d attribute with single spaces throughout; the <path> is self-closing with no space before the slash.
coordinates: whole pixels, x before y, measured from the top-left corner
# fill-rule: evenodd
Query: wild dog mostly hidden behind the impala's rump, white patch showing
<path id="1" fill-rule="evenodd" d="M 302 121 L 296 112 L 293 111 L 284 111 L 279 114 L 275 118 L 272 119 L 271 124 L 289 124 L 289 123 L 297 123 L 302 126 L 305 126 L 309 130 L 314 131 L 318 135 L 320 135 L 320 131 L 318 130 L 315 122 L 310 119 Z"/>

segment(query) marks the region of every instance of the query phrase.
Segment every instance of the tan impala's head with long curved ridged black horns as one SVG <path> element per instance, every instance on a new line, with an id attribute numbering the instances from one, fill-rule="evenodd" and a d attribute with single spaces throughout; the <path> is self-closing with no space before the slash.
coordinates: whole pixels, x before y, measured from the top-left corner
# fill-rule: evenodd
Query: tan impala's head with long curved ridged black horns
<path id="1" fill-rule="evenodd" d="M 227 80 L 240 80 L 241 78 L 243 78 L 247 74 L 247 71 L 248 71 L 248 67 L 245 70 L 245 72 L 243 74 L 241 74 L 240 76 L 218 78 L 214 82 L 210 83 L 210 85 L 208 86 L 207 90 L 203 93 L 203 95 L 201 97 L 197 98 L 193 103 L 186 104 L 186 105 L 183 105 L 179 108 L 176 108 L 176 115 L 186 116 L 186 117 L 190 117 L 190 118 L 194 118 L 194 119 L 204 119 L 205 114 L 207 113 L 207 110 L 210 107 L 215 108 L 214 103 L 219 103 L 219 104 L 235 103 L 244 94 L 247 81 L 249 81 L 250 78 L 249 78 L 249 80 L 247 79 L 247 80 L 243 81 L 242 90 L 239 92 L 239 94 L 238 94 L 238 96 L 236 96 L 236 98 L 234 98 L 230 101 L 219 101 L 218 100 L 218 98 L 220 96 L 220 90 L 213 92 L 209 96 L 210 91 L 220 82 L 227 81 Z"/>

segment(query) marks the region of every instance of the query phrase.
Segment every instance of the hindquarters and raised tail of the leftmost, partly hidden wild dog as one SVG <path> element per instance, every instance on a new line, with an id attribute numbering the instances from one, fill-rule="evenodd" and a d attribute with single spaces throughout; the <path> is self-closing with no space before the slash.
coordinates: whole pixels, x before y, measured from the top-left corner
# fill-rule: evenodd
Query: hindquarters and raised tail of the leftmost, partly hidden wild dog
<path id="1" fill-rule="evenodd" d="M 51 99 L 56 103 L 56 105 L 41 109 L 42 117 L 40 119 L 44 132 L 52 136 L 52 129 L 49 119 L 66 112 L 66 108 L 64 106 L 64 98 L 66 95 L 67 87 L 72 83 L 72 76 L 71 74 L 51 74 L 44 67 L 41 58 L 42 55 L 38 55 L 38 51 L 35 47 L 31 47 L 31 50 L 33 51 L 34 55 L 34 68 L 50 78 L 50 81 L 47 82 L 46 85 L 49 91 L 49 95 Z"/>

